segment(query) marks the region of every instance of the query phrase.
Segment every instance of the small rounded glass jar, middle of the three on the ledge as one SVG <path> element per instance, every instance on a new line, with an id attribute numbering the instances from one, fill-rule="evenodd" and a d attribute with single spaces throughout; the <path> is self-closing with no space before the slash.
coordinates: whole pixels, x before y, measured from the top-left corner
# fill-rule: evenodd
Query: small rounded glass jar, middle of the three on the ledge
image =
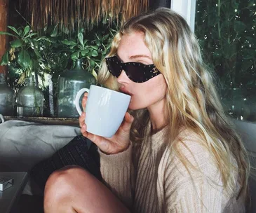
<path id="1" fill-rule="evenodd" d="M 17 116 L 43 116 L 43 92 L 34 85 L 34 76 L 27 78 L 27 85 L 18 91 Z"/>

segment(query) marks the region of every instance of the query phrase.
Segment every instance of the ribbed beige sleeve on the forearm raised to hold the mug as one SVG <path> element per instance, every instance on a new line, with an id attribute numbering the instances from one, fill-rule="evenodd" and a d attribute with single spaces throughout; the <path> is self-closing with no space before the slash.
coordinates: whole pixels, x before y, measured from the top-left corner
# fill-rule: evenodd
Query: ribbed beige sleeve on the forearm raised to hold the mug
<path id="1" fill-rule="evenodd" d="M 99 150 L 100 172 L 105 185 L 129 208 L 133 205 L 134 186 L 132 149 L 130 144 L 126 151 L 113 155 Z"/>

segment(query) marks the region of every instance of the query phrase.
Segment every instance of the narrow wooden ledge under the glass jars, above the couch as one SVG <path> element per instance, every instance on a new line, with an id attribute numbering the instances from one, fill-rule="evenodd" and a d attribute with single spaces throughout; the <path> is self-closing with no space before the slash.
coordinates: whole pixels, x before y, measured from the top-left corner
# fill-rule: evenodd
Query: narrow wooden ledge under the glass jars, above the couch
<path id="1" fill-rule="evenodd" d="M 79 118 L 47 118 L 47 117 L 13 117 L 4 116 L 5 121 L 20 120 L 47 125 L 74 125 L 79 127 Z"/>

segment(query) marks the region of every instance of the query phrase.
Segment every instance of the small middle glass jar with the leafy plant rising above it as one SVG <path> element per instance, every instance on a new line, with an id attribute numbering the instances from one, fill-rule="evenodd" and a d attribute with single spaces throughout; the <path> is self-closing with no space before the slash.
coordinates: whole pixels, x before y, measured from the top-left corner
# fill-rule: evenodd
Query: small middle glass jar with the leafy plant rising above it
<path id="1" fill-rule="evenodd" d="M 13 36 L 13 41 L 10 42 L 10 47 L 2 57 L 0 64 L 12 64 L 12 69 L 22 72 L 18 84 L 28 84 L 18 91 L 17 114 L 18 116 L 42 116 L 43 92 L 38 87 L 37 77 L 37 69 L 42 57 L 39 53 L 39 42 L 35 37 L 37 34 L 32 32 L 29 25 L 18 29 L 11 26 L 8 28 L 13 34 L 8 32 L 0 32 L 0 34 Z M 33 72 L 34 75 L 32 75 Z M 25 82 L 25 79 L 28 81 Z"/>

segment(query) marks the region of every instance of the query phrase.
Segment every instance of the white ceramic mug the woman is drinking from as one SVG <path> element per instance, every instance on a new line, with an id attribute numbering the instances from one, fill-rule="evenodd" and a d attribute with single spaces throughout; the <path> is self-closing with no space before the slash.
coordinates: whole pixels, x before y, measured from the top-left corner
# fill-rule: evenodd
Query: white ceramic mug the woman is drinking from
<path id="1" fill-rule="evenodd" d="M 77 92 L 76 110 L 81 115 L 79 100 L 84 92 L 88 92 L 86 102 L 87 132 L 102 137 L 112 137 L 119 129 L 130 104 L 130 95 L 90 85 L 90 90 L 83 88 Z"/>

